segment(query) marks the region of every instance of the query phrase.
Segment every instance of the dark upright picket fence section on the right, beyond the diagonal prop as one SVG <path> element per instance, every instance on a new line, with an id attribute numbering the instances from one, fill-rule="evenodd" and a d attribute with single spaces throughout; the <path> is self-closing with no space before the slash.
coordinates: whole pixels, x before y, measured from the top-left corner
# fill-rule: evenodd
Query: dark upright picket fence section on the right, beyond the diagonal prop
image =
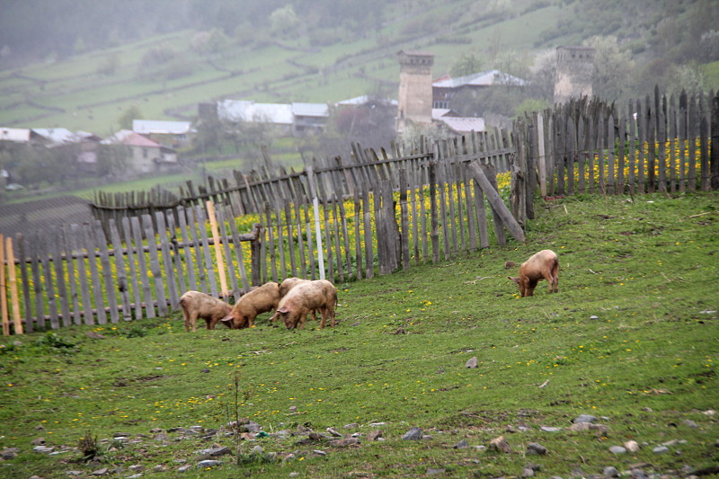
<path id="1" fill-rule="evenodd" d="M 532 217 L 533 192 L 638 194 L 719 188 L 719 95 L 660 94 L 626 105 L 586 98 L 515 124 L 520 194 L 516 217 Z M 714 140 L 714 141 L 712 141 Z M 711 150 L 711 151 L 710 151 Z M 536 173 L 536 174 L 535 174 Z"/>

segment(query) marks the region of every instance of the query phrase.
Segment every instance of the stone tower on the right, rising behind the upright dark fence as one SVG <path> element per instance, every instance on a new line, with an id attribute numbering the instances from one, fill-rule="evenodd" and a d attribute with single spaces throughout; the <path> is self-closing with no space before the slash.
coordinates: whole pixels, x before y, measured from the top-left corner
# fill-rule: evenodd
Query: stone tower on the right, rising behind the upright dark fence
<path id="1" fill-rule="evenodd" d="M 594 49 L 590 47 L 557 47 L 555 103 L 570 98 L 591 97 L 594 75 Z"/>

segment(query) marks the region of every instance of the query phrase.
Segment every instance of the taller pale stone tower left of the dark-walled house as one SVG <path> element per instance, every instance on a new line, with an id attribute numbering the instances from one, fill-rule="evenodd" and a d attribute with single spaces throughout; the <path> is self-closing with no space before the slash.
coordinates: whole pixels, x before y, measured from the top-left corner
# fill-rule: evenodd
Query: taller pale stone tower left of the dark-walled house
<path id="1" fill-rule="evenodd" d="M 434 55 L 426 51 L 400 51 L 397 130 L 407 121 L 432 122 L 432 65 Z"/>

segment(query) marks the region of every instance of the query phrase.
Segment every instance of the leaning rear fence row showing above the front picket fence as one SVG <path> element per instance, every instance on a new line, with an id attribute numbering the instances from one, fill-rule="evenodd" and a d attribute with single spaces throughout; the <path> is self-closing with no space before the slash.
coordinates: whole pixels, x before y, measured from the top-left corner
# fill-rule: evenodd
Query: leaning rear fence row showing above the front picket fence
<path id="1" fill-rule="evenodd" d="M 483 155 L 498 172 L 509 170 L 513 151 L 510 133 L 500 129 L 475 132 L 439 144 L 439 153 L 443 157 Z M 390 181 L 395 190 L 399 190 L 399 170 L 413 171 L 414 165 L 428 161 L 434 153 L 433 146 L 426 139 L 414 145 L 393 143 L 389 152 L 384 148 L 377 152 L 355 144 L 347 157 L 313 158 L 300 172 L 275 166 L 265 150 L 263 154 L 265 162 L 258 170 L 235 171 L 232 178 L 210 176 L 207 185 L 187 182 L 176 193 L 161 188 L 126 193 L 98 191 L 92 204 L 93 215 L 102 221 L 107 234 L 110 219 L 121 225 L 123 217 L 144 214 L 155 217 L 156 211 L 178 206 L 204 207 L 207 201 L 228 206 L 235 217 L 261 214 L 267 202 L 272 208 L 281 208 L 285 200 L 311 204 L 314 199 L 310 194 L 310 169 L 314 173 L 312 180 L 316 182 L 318 194 L 323 198 L 351 198 L 355 191 L 373 191 L 381 181 Z"/>

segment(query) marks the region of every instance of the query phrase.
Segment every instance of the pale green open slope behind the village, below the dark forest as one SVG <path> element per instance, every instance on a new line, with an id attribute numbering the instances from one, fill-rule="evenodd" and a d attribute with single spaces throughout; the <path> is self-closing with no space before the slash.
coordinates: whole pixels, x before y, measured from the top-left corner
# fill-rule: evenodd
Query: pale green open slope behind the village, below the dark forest
<path id="1" fill-rule="evenodd" d="M 579 43 L 589 33 L 632 37 L 633 22 L 649 22 L 661 11 L 661 4 L 650 2 L 643 7 L 644 16 L 616 22 L 621 5 L 587 19 L 581 17 L 584 4 L 451 0 L 412 2 L 408 11 L 404 2 L 391 2 L 383 22 L 361 35 L 317 28 L 283 39 L 258 29 L 228 38 L 209 52 L 192 46 L 197 31 L 174 31 L 1 71 L 0 125 L 57 126 L 104 136 L 119 129 L 120 115 L 133 104 L 146 119 L 173 120 L 191 119 L 199 102 L 224 97 L 338 102 L 377 89 L 395 96 L 400 49 L 430 50 L 436 56 L 433 75 L 439 77 L 461 53 L 492 58 L 512 51 L 521 58 L 538 49 Z"/>

